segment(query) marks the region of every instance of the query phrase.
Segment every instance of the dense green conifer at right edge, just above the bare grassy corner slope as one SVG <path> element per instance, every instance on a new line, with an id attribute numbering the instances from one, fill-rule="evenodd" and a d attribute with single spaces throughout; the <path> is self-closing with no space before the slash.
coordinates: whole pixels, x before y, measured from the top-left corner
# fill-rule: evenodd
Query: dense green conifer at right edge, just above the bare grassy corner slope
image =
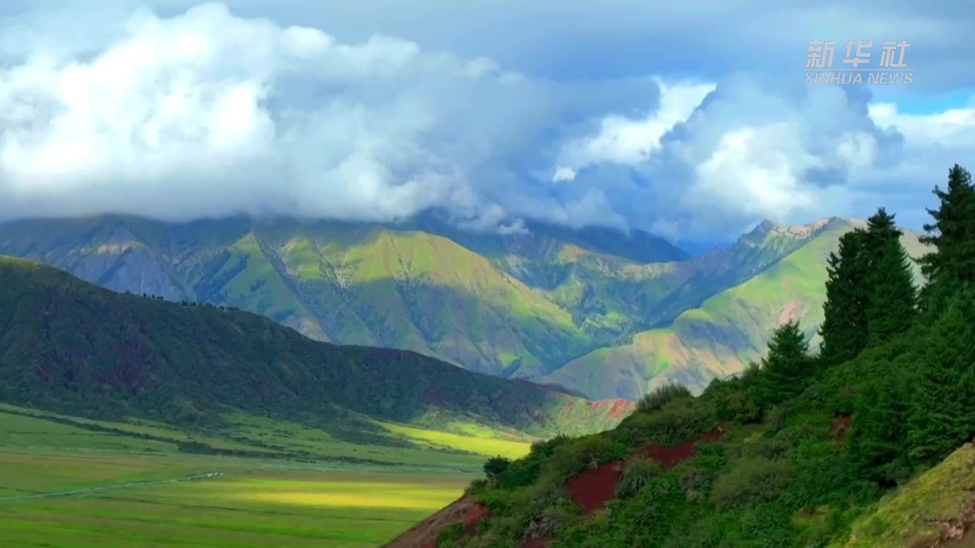
<path id="1" fill-rule="evenodd" d="M 908 441 L 920 462 L 943 458 L 975 434 L 973 297 L 961 292 L 946 304 L 919 353 Z"/>

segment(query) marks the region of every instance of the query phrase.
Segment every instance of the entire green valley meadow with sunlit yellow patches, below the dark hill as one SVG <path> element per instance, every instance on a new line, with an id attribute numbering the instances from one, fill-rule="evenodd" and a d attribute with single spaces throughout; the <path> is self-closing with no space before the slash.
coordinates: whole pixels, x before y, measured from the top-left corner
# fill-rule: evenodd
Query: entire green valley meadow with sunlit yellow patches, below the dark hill
<path id="1" fill-rule="evenodd" d="M 0 546 L 379 546 L 460 496 L 484 454 L 524 449 L 388 424 L 418 445 L 354 446 L 233 419 L 227 435 L 207 436 L 0 408 Z M 253 452 L 188 454 L 178 445 L 186 441 Z M 270 442 L 319 458 L 284 458 Z M 369 460 L 332 460 L 355 455 Z"/>

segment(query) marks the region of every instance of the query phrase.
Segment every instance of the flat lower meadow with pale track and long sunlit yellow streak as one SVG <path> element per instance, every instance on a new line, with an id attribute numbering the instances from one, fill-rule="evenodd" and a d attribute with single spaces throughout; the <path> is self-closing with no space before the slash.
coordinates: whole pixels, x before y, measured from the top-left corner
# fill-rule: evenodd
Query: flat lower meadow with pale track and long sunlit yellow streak
<path id="1" fill-rule="evenodd" d="M 94 450 L 0 450 L 0 468 L 3 546 L 377 546 L 470 480 Z M 169 481 L 199 473 L 219 475 Z M 10 498 L 104 486 L 125 487 Z"/>

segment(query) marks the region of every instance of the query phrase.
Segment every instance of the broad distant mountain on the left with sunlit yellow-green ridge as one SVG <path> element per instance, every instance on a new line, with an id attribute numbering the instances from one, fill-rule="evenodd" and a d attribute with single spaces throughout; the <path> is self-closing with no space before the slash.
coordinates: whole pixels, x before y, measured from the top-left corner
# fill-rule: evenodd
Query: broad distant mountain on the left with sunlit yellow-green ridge
<path id="1" fill-rule="evenodd" d="M 544 295 L 423 232 L 107 216 L 8 223 L 0 253 L 115 291 L 232 305 L 319 340 L 415 350 L 477 372 L 547 372 L 593 347 Z"/>

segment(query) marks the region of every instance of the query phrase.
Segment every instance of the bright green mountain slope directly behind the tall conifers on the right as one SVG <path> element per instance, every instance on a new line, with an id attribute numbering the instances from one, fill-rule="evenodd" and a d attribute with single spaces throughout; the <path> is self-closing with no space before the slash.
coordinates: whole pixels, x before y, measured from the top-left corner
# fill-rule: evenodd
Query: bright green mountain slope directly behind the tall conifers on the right
<path id="1" fill-rule="evenodd" d="M 826 257 L 857 222 L 835 218 L 821 223 L 799 250 L 683 312 L 672 325 L 637 333 L 632 343 L 591 352 L 544 380 L 596 398 L 637 399 L 672 381 L 699 393 L 711 379 L 740 372 L 757 360 L 775 326 L 799 319 L 814 335 L 823 320 Z M 916 234 L 905 234 L 902 243 L 912 256 L 922 253 Z"/>

